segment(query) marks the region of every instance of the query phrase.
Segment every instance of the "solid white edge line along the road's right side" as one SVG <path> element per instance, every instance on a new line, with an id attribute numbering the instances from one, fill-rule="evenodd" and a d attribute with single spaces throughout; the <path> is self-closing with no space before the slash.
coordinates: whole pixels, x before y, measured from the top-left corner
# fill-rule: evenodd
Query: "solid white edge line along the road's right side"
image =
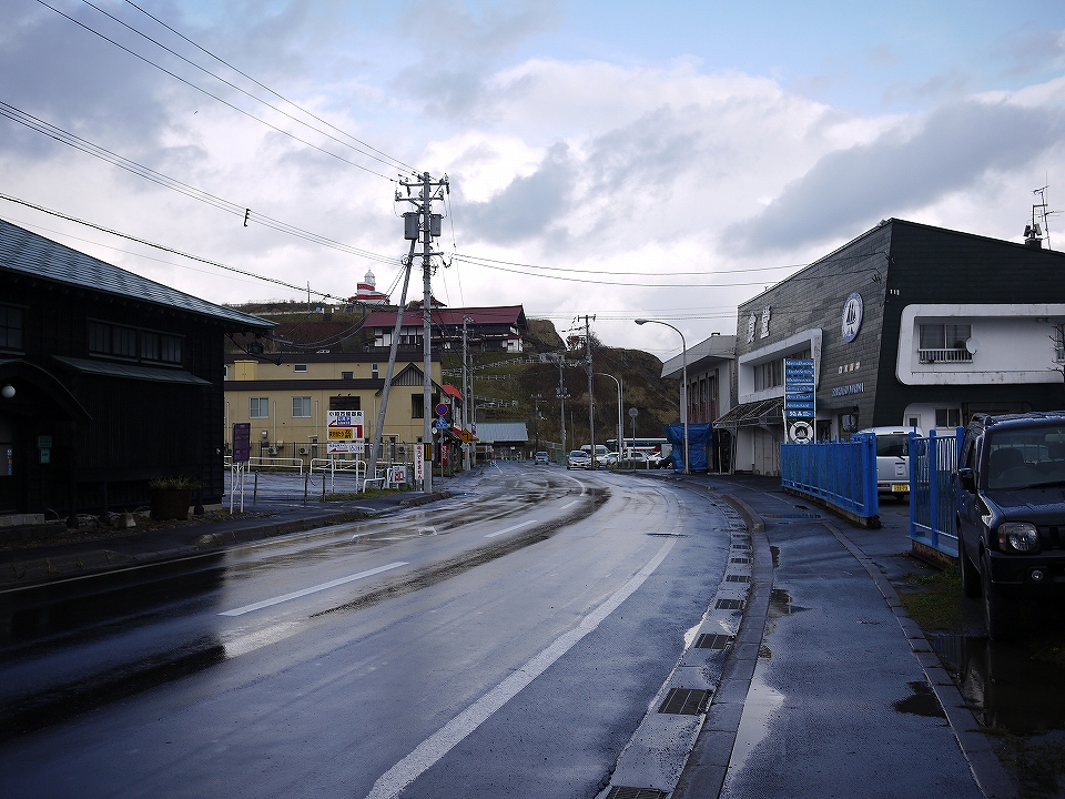
<path id="1" fill-rule="evenodd" d="M 382 775 L 374 782 L 374 788 L 366 799 L 394 799 L 394 797 L 397 797 L 404 788 L 414 782 L 484 721 L 487 721 L 496 710 L 544 674 L 552 663 L 576 646 L 581 638 L 595 630 L 621 603 L 636 593 L 666 559 L 669 550 L 673 547 L 673 543 L 674 539 L 670 539 L 662 544 L 658 554 L 648 560 L 643 568 L 637 572 L 602 605 L 588 614 L 576 629 L 556 638 L 554 644 L 534 656 L 531 660 L 422 741 L 413 752 Z"/>

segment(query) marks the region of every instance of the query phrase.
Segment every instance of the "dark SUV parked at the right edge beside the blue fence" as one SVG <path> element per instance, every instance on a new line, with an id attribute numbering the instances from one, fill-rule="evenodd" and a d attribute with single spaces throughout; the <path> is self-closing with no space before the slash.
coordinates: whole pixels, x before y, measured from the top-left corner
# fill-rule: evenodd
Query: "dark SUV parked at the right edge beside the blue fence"
<path id="1" fill-rule="evenodd" d="M 962 589 L 987 635 L 1015 636 L 1023 599 L 1065 587 L 1065 412 L 976 414 L 957 461 Z"/>

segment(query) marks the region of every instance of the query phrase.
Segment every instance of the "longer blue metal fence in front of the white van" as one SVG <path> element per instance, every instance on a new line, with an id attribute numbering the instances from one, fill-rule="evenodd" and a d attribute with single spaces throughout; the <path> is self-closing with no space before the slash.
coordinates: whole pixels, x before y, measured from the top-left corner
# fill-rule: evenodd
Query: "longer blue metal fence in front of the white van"
<path id="1" fill-rule="evenodd" d="M 780 484 L 819 497 L 862 518 L 880 515 L 876 497 L 876 441 L 780 445 Z"/>

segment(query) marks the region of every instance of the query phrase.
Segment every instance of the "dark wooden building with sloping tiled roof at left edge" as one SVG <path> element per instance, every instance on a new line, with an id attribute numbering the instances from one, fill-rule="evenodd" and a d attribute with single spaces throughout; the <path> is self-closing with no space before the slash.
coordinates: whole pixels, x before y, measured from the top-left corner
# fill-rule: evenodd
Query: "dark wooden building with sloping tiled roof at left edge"
<path id="1" fill-rule="evenodd" d="M 223 342 L 273 323 L 0 221 L 0 514 L 223 494 Z"/>

